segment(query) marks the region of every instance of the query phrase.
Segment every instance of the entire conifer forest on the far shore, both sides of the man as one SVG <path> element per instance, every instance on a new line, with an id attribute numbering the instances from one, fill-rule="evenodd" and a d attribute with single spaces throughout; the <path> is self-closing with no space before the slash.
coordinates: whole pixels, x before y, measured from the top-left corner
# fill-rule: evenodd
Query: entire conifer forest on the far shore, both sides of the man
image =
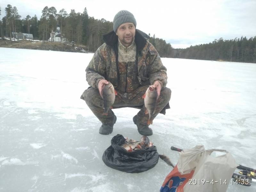
<path id="1" fill-rule="evenodd" d="M 59 12 L 55 7 L 45 6 L 40 19 L 36 15 L 21 19 L 17 7 L 8 4 L 4 9 L 5 16 L 0 20 L 1 37 L 13 37 L 12 32 L 33 34 L 34 39 L 48 41 L 52 31 L 60 25 L 61 34 L 76 45 L 86 45 L 87 51 L 95 52 L 104 43 L 102 34 L 113 30 L 113 22 L 104 18 L 98 20 L 90 17 L 86 7 L 83 13 L 71 9 Z M 0 7 L 1 16 L 1 7 Z M 150 36 L 150 34 L 148 34 Z M 190 46 L 186 49 L 174 49 L 170 43 L 163 39 L 150 36 L 152 43 L 161 57 L 184 58 L 199 60 L 224 60 L 236 62 L 256 63 L 256 36 L 231 40 L 215 39 L 209 44 Z"/>

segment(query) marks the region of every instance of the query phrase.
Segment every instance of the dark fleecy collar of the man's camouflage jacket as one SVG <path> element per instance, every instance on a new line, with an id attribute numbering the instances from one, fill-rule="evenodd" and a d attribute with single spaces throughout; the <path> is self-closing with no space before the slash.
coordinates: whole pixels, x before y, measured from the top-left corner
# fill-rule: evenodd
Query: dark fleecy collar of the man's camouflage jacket
<path id="1" fill-rule="evenodd" d="M 111 31 L 103 35 L 103 40 L 107 45 L 114 47 L 117 44 L 118 37 L 114 31 Z M 141 51 L 144 48 L 146 42 L 147 40 L 140 34 L 137 29 L 135 29 L 135 43 L 138 51 Z"/>

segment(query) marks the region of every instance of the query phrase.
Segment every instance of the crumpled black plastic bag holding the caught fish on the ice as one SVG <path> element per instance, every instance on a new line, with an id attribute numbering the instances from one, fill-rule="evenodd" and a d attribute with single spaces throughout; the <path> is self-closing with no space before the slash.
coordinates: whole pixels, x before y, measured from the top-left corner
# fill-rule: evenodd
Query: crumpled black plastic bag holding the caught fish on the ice
<path id="1" fill-rule="evenodd" d="M 120 134 L 112 138 L 111 146 L 104 151 L 102 156 L 103 162 L 108 167 L 128 173 L 140 173 L 157 164 L 159 155 L 156 146 L 128 152 L 120 146 L 125 141 L 126 139 Z"/>

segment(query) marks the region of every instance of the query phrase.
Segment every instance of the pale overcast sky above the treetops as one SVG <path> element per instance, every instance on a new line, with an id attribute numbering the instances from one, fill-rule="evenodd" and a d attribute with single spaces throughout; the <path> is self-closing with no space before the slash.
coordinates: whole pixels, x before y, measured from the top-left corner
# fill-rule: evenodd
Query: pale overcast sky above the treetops
<path id="1" fill-rule="evenodd" d="M 95 19 L 113 21 L 120 10 L 132 12 L 137 28 L 169 42 L 174 48 L 256 36 L 256 0 L 1 0 L 1 18 L 7 4 L 16 6 L 21 18 L 36 14 L 38 19 L 45 6 L 83 12 Z"/>

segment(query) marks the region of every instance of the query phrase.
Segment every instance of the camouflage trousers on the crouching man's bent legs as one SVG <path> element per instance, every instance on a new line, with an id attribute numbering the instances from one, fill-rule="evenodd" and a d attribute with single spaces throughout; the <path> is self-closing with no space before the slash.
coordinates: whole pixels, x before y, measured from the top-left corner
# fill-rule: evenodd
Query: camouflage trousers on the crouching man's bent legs
<path id="1" fill-rule="evenodd" d="M 148 114 L 145 114 L 146 108 L 144 105 L 144 99 L 142 96 L 148 89 L 148 85 L 143 85 L 138 87 L 133 92 L 117 92 L 115 102 L 113 107 L 126 107 L 126 106 L 142 106 L 138 112 L 138 120 L 140 124 L 147 125 L 148 122 Z M 169 100 L 171 99 L 171 90 L 167 87 L 161 90 L 160 96 L 158 98 L 156 104 L 156 111 L 153 115 L 153 119 L 157 116 L 157 114 L 167 105 Z M 94 88 L 89 88 L 85 90 L 81 96 L 81 99 L 84 99 L 88 107 L 92 110 L 93 114 L 100 120 L 103 124 L 112 124 L 114 120 L 114 112 L 113 110 L 108 110 L 108 115 L 102 115 L 104 112 L 103 99 L 100 96 L 99 90 Z"/>

